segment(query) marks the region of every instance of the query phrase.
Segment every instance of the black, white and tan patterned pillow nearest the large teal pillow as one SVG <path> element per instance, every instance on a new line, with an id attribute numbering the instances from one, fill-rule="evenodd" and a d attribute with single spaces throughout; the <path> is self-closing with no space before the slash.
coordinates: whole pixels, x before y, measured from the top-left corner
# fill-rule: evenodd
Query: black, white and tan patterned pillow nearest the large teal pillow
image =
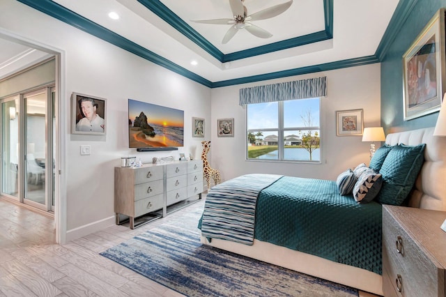
<path id="1" fill-rule="evenodd" d="M 362 173 L 353 187 L 353 197 L 357 203 L 368 203 L 378 195 L 383 178 L 377 174 L 374 169 L 369 169 Z"/>

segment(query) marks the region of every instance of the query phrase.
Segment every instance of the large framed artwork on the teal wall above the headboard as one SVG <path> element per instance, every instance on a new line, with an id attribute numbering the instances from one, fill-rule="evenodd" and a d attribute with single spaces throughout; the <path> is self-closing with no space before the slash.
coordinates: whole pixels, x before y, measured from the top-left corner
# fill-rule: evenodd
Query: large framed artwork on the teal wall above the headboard
<path id="1" fill-rule="evenodd" d="M 441 8 L 403 54 L 404 121 L 440 110 L 445 78 L 445 9 Z"/>

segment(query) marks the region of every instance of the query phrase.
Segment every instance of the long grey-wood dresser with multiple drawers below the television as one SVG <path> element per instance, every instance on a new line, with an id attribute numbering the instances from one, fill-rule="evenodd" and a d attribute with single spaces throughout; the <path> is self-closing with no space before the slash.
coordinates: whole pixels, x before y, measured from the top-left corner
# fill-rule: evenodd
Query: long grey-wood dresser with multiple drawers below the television
<path id="1" fill-rule="evenodd" d="M 142 167 L 115 167 L 114 212 L 116 224 L 120 215 L 130 220 L 130 228 L 161 218 L 191 204 L 188 200 L 203 192 L 203 161 L 176 161 L 146 164 Z M 149 214 L 149 215 L 148 215 Z M 135 218 L 148 218 L 135 224 Z"/>

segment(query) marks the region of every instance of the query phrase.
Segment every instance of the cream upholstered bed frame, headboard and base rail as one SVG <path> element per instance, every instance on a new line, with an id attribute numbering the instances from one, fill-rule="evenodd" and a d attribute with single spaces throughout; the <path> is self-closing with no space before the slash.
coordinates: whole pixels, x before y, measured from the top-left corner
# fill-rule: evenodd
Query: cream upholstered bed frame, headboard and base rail
<path id="1" fill-rule="evenodd" d="M 412 207 L 446 211 L 446 137 L 435 137 L 433 128 L 424 128 L 387 135 L 386 144 L 426 144 L 424 165 L 410 194 Z M 373 294 L 383 295 L 381 275 L 362 268 L 339 264 L 271 243 L 254 240 L 254 245 L 201 237 L 201 242 L 215 248 L 306 273 Z"/>

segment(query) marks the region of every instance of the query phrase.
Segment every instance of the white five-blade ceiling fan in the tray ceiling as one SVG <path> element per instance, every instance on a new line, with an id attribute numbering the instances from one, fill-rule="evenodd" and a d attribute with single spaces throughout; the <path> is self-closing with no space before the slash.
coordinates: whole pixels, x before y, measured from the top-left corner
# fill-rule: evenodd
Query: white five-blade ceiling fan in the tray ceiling
<path id="1" fill-rule="evenodd" d="M 261 29 L 259 26 L 251 24 L 251 21 L 266 20 L 270 17 L 275 17 L 284 13 L 291 4 L 293 0 L 286 3 L 282 3 L 276 6 L 271 6 L 270 8 L 265 8 L 252 15 L 248 15 L 246 7 L 243 5 L 245 0 L 229 0 L 231 5 L 231 10 L 233 14 L 232 19 L 215 19 L 215 20 L 192 20 L 192 22 L 201 24 L 230 24 L 231 27 L 226 32 L 223 37 L 222 43 L 228 43 L 231 38 L 238 32 L 238 30 L 246 29 L 252 35 L 259 38 L 270 38 L 272 34 L 265 29 Z"/>

